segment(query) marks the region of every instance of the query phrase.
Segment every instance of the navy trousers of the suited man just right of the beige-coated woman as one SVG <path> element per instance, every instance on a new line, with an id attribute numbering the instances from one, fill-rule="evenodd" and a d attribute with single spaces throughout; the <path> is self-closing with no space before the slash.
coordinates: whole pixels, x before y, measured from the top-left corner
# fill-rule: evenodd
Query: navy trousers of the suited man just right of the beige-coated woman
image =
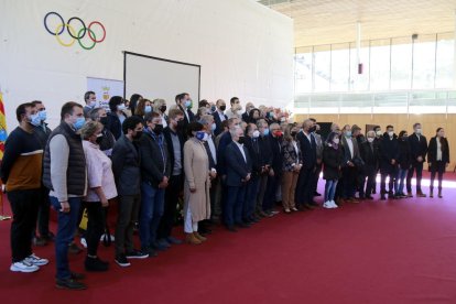
<path id="1" fill-rule="evenodd" d="M 246 199 L 246 185 L 239 187 L 227 186 L 227 199 L 225 200 L 225 225 L 232 227 L 242 222 L 242 208 Z"/>

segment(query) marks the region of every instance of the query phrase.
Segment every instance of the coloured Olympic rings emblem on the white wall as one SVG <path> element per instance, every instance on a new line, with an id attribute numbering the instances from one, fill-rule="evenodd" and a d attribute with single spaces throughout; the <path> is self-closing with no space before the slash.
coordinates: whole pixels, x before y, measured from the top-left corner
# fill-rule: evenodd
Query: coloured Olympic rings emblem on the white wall
<path id="1" fill-rule="evenodd" d="M 50 29 L 50 17 L 56 17 L 59 19 L 59 23 L 57 23 L 57 25 L 54 29 Z M 77 30 L 75 30 L 75 28 L 72 25 L 72 22 L 73 24 L 75 22 L 79 23 Z M 95 25 L 97 25 L 102 32 L 102 35 L 99 39 L 97 39 L 95 31 L 93 30 Z M 56 12 L 46 13 L 46 15 L 44 17 L 44 29 L 46 29 L 47 33 L 55 36 L 58 44 L 67 47 L 73 46 L 73 44 L 75 44 L 75 42 L 77 41 L 82 48 L 91 50 L 95 47 L 95 45 L 97 45 L 97 43 L 101 43 L 106 39 L 106 29 L 105 25 L 101 24 L 101 22 L 93 21 L 88 24 L 88 26 L 86 26 L 86 23 L 78 17 L 72 17 L 68 19 L 68 21 L 65 22 L 63 17 Z M 62 36 L 65 34 L 65 32 L 68 33 L 69 39 L 66 39 L 64 41 Z M 86 34 L 91 42 L 86 42 L 85 44 L 83 43 L 83 39 L 86 36 Z"/>

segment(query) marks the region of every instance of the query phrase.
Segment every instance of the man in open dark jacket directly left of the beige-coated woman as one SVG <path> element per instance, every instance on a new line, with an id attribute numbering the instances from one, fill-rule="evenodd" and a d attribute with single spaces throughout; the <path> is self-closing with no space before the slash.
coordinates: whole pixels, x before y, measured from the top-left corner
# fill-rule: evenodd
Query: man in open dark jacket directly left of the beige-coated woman
<path id="1" fill-rule="evenodd" d="M 158 242 L 161 247 L 180 245 L 182 240 L 171 235 L 175 219 L 178 195 L 184 188 L 184 137 L 182 127 L 184 113 L 180 109 L 171 109 L 169 112 L 169 124 L 163 130 L 167 153 L 171 162 L 171 176 L 165 189 L 164 210 L 160 219 L 156 232 Z"/>

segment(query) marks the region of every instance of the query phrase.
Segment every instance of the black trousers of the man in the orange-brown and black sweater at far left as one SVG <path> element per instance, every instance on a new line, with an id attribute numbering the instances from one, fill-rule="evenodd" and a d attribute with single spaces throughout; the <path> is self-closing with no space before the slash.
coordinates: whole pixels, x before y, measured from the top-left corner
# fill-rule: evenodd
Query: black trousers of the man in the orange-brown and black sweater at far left
<path id="1" fill-rule="evenodd" d="M 12 262 L 20 262 L 32 254 L 32 234 L 35 228 L 40 189 L 8 192 L 13 220 L 11 222 Z"/>

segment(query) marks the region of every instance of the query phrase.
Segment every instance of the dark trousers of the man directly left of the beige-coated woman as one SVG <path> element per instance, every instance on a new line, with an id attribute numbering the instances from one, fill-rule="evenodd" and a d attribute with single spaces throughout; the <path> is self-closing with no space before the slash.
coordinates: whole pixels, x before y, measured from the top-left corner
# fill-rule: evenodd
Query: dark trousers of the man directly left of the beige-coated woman
<path id="1" fill-rule="evenodd" d="M 156 231 L 158 239 L 164 239 L 171 236 L 171 231 L 176 221 L 178 195 L 184 186 L 182 178 L 182 174 L 170 177 L 169 185 L 165 189 L 163 216 L 160 219 L 159 230 Z"/>

